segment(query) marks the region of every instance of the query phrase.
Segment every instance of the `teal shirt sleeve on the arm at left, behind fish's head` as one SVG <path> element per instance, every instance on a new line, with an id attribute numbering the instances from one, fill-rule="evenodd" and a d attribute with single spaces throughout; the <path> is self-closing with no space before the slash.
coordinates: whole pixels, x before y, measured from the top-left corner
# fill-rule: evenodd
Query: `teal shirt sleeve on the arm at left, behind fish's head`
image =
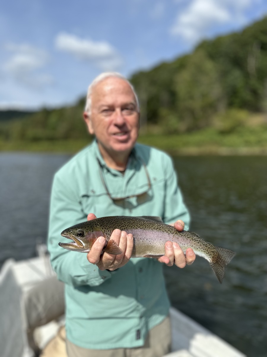
<path id="1" fill-rule="evenodd" d="M 48 228 L 48 251 L 58 279 L 72 286 L 98 286 L 111 277 L 111 272 L 101 271 L 87 260 L 86 253 L 68 251 L 58 245 L 68 242 L 61 232 L 74 224 L 86 221 L 80 199 L 73 189 L 73 182 L 61 175 L 54 176 Z M 77 190 L 76 190 L 77 191 Z"/>

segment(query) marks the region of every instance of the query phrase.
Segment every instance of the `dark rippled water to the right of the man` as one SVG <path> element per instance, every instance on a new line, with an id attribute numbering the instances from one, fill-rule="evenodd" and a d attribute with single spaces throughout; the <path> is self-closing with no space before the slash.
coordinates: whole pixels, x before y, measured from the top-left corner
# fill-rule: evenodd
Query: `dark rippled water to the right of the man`
<path id="1" fill-rule="evenodd" d="M 267 159 L 177 157 L 190 229 L 236 252 L 220 285 L 197 257 L 165 269 L 172 305 L 247 356 L 267 354 Z"/>

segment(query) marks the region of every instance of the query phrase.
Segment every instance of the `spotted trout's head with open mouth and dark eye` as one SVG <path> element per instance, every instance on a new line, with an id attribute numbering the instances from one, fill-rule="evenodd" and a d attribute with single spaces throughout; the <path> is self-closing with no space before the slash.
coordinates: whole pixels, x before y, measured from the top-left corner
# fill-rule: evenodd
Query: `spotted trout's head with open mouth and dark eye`
<path id="1" fill-rule="evenodd" d="M 58 243 L 59 246 L 68 250 L 88 253 L 96 239 L 100 236 L 104 236 L 104 233 L 101 231 L 101 228 L 97 226 L 90 225 L 84 227 L 82 225 L 75 225 L 65 229 L 61 232 L 61 235 L 62 237 L 72 239 L 73 242 Z"/>

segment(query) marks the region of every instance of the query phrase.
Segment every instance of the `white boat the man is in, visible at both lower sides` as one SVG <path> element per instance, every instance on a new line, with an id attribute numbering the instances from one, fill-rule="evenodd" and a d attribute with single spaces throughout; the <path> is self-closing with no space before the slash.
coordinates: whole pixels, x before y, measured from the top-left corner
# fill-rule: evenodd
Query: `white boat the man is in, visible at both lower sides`
<path id="1" fill-rule="evenodd" d="M 0 306 L 1 357 L 64 356 L 64 285 L 52 270 L 45 245 L 38 247 L 37 257 L 5 261 Z M 174 307 L 170 316 L 172 352 L 165 357 L 245 357 Z M 63 355 L 53 347 L 52 356 L 45 351 L 56 336 L 62 341 Z"/>

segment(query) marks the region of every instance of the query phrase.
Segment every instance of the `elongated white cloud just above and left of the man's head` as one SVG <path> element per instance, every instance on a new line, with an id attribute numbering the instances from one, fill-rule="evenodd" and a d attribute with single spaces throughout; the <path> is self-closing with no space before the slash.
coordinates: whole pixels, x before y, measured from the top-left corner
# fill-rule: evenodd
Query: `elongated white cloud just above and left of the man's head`
<path id="1" fill-rule="evenodd" d="M 121 56 L 106 41 L 91 41 L 78 36 L 59 33 L 55 39 L 58 50 L 68 52 L 80 60 L 93 62 L 102 70 L 115 70 L 122 66 Z"/>

